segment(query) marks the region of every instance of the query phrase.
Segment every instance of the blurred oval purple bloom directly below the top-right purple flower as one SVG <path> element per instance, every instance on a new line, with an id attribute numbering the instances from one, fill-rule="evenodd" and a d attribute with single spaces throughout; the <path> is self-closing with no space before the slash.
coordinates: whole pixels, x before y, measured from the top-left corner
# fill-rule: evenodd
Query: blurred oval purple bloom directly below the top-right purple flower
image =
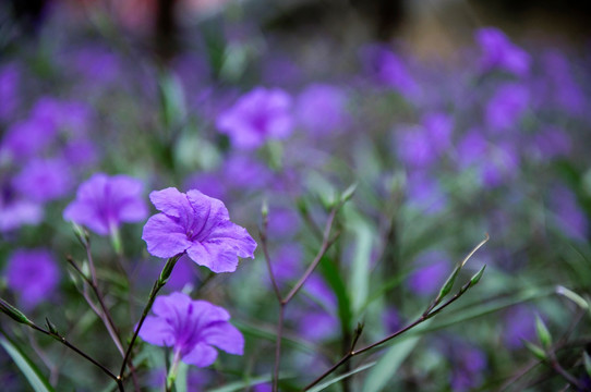
<path id="1" fill-rule="evenodd" d="M 506 83 L 486 103 L 486 124 L 494 131 L 508 130 L 528 109 L 530 93 L 526 86 Z"/>

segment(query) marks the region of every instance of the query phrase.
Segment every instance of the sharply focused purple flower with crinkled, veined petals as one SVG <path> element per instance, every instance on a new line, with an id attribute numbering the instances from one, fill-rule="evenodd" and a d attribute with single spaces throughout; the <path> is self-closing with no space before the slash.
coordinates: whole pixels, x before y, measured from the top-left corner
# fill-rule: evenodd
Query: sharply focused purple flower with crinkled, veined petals
<path id="1" fill-rule="evenodd" d="M 149 194 L 162 213 L 148 219 L 142 238 L 148 252 L 168 258 L 186 252 L 214 272 L 232 272 L 238 257 L 254 258 L 256 243 L 244 228 L 230 221 L 224 203 L 192 189 L 169 187 Z"/>

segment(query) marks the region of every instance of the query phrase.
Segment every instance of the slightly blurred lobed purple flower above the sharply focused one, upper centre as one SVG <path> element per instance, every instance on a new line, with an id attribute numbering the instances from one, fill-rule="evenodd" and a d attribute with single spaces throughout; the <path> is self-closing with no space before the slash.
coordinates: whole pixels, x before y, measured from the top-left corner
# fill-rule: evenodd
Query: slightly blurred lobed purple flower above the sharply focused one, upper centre
<path id="1" fill-rule="evenodd" d="M 217 118 L 217 127 L 242 149 L 262 146 L 267 139 L 291 134 L 291 97 L 281 89 L 257 87 L 243 95 Z"/>

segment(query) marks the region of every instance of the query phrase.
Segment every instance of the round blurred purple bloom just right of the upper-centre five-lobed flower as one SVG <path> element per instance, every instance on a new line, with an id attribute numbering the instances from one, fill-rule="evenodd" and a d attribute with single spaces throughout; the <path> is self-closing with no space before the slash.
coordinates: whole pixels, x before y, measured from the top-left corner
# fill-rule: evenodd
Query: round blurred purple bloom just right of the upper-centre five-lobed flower
<path id="1" fill-rule="evenodd" d="M 296 113 L 312 135 L 339 132 L 347 125 L 347 95 L 336 86 L 311 84 L 298 97 Z"/>

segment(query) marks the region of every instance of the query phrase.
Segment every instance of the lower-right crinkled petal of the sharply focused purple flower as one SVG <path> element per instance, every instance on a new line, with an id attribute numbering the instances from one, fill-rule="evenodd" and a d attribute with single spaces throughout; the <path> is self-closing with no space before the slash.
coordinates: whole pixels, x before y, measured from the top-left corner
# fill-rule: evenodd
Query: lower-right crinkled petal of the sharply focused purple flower
<path id="1" fill-rule="evenodd" d="M 186 254 L 200 266 L 209 268 L 213 272 L 233 272 L 238 266 L 237 252 L 224 241 L 194 243 Z"/>

